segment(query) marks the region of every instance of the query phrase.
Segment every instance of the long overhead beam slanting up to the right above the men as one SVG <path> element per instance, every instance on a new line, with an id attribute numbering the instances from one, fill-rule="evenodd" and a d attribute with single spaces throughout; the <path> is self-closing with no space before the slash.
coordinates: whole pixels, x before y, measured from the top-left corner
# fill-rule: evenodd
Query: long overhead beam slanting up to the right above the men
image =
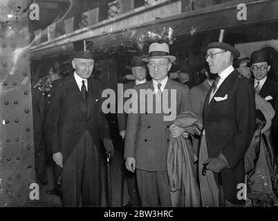
<path id="1" fill-rule="evenodd" d="M 36 52 L 41 50 L 47 53 L 46 50 L 48 48 L 70 44 L 71 42 L 83 39 L 93 40 L 94 46 L 97 49 L 100 46 L 109 46 L 107 45 L 109 43 L 115 45 L 114 40 L 119 43 L 121 42 L 120 39 L 136 40 L 136 38 L 146 34 L 148 30 L 151 32 L 161 32 L 163 28 L 172 28 L 174 30 L 174 36 L 178 37 L 181 35 L 191 35 L 194 32 L 248 26 L 254 23 L 278 20 L 278 4 L 276 0 L 245 1 L 247 6 L 247 20 L 237 19 L 237 13 L 239 12 L 237 6 L 239 3 L 242 3 L 242 0 L 183 12 L 164 19 L 156 19 L 155 21 L 143 23 L 140 26 L 127 27 L 125 30 L 115 30 L 114 32 L 108 33 L 96 34 L 95 29 L 100 26 L 100 24 L 97 24 L 84 30 L 77 30 L 71 35 L 56 39 L 53 42 L 33 47 L 31 48 L 31 53 L 35 55 Z M 113 22 L 117 22 L 117 20 Z"/>

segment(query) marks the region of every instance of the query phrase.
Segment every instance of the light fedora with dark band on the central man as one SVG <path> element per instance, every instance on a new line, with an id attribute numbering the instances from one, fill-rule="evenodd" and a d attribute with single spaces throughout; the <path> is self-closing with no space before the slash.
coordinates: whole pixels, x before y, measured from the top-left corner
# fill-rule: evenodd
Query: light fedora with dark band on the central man
<path id="1" fill-rule="evenodd" d="M 176 57 L 169 54 L 169 46 L 166 43 L 152 43 L 149 46 L 149 55 L 143 61 L 148 61 L 150 58 L 167 58 L 172 63 L 176 60 Z"/>

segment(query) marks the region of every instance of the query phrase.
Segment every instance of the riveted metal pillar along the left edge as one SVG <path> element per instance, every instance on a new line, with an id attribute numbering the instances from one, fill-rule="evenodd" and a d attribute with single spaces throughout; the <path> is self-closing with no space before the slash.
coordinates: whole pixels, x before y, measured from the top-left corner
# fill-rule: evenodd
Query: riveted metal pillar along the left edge
<path id="1" fill-rule="evenodd" d="M 1 1 L 0 206 L 30 206 L 35 182 L 28 0 Z"/>

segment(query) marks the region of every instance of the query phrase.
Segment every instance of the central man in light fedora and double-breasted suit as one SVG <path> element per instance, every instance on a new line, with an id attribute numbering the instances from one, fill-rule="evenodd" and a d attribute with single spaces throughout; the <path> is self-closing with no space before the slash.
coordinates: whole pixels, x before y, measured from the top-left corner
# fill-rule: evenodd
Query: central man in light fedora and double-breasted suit
<path id="1" fill-rule="evenodd" d="M 136 90 L 150 89 L 154 97 L 163 98 L 165 92 L 176 90 L 176 115 L 191 111 L 189 89 L 167 76 L 176 57 L 169 55 L 167 44 L 153 43 L 149 46 L 147 62 L 151 81 L 136 86 Z M 153 101 L 156 98 L 153 97 Z M 170 99 L 170 98 L 169 98 Z M 162 100 L 162 99 L 161 99 Z M 124 157 L 127 169 L 136 171 L 138 190 L 142 206 L 171 206 L 169 182 L 167 177 L 167 146 L 169 128 L 172 121 L 164 121 L 163 116 L 171 113 L 158 113 L 158 106 L 153 102 L 153 113 L 130 113 L 127 117 L 127 133 L 124 145 Z M 179 136 L 183 129 L 172 127 L 172 135 Z"/>

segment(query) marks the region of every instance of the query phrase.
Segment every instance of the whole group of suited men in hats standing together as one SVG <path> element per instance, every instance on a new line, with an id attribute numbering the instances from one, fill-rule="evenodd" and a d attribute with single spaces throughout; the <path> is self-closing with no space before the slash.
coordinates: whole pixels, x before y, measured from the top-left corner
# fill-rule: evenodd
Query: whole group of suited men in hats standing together
<path id="1" fill-rule="evenodd" d="M 268 55 L 257 50 L 249 58 L 223 42 L 209 44 L 205 53 L 208 68 L 201 69 L 205 80 L 198 85 L 189 70 L 180 70 L 180 82 L 168 77 L 176 57 L 167 44 L 151 44 L 147 57 L 135 56 L 127 67 L 135 81 L 124 84 L 124 90 L 153 90 L 156 110 L 155 101 L 163 99 L 163 90 L 175 89 L 177 110 L 174 122 L 163 120 L 169 113 L 118 114 L 127 206 L 246 206 L 261 201 L 252 196 L 249 201 L 239 199 L 237 186 L 248 179 L 257 182 L 259 178 L 250 174 L 256 172 L 256 162 L 267 167 L 263 162 L 269 159 L 260 158 L 263 151 L 268 157 L 272 154 L 276 164 L 278 86 L 267 76 Z M 100 206 L 104 186 L 100 140 L 106 153 L 113 155 L 101 111 L 102 89 L 91 77 L 93 62 L 90 52 L 75 52 L 73 75 L 61 78 L 51 67 L 50 84 L 33 88 L 37 177 L 47 182 L 47 146 L 56 171 L 55 189 L 48 193 L 62 195 L 63 206 Z M 147 70 L 151 81 L 146 80 Z M 41 90 L 44 87 L 50 90 Z M 277 202 L 272 172 L 265 175 L 271 180 L 267 182 L 272 186 L 271 200 Z"/>

